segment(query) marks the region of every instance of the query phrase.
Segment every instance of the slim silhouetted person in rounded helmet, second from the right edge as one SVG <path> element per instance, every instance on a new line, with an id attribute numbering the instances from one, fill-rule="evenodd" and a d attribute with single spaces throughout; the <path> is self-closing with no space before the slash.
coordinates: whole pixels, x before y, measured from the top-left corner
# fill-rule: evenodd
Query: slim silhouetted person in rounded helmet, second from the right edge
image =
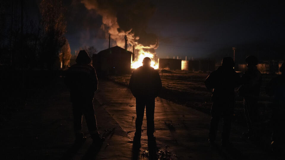
<path id="1" fill-rule="evenodd" d="M 253 55 L 246 57 L 248 70 L 241 76 L 242 86 L 238 89 L 239 95 L 243 97 L 244 113 L 248 126 L 248 132 L 243 133 L 243 135 L 250 140 L 253 140 L 255 135 L 253 125 L 258 117 L 257 102 L 262 81 L 262 74 L 257 69 L 257 63 L 257 57 Z"/>

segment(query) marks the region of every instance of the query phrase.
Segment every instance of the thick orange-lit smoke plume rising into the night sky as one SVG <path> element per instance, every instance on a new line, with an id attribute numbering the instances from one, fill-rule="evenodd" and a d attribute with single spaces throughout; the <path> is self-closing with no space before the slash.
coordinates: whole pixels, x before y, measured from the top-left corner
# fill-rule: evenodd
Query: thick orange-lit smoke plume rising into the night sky
<path id="1" fill-rule="evenodd" d="M 111 34 L 118 46 L 124 48 L 126 35 L 128 50 L 132 46 L 138 50 L 155 53 L 159 46 L 158 38 L 153 33 L 147 33 L 148 20 L 156 8 L 150 1 L 139 0 L 82 0 L 81 3 L 89 10 L 95 9 L 102 16 L 101 29 Z"/>

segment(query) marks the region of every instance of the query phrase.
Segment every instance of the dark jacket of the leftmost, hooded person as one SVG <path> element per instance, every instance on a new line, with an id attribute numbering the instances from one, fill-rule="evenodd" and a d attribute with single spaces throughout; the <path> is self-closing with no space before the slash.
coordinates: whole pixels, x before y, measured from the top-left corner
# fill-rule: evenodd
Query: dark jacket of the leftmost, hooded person
<path id="1" fill-rule="evenodd" d="M 93 100 L 98 89 L 96 71 L 89 64 L 72 65 L 67 71 L 65 83 L 70 89 L 72 102 Z"/>

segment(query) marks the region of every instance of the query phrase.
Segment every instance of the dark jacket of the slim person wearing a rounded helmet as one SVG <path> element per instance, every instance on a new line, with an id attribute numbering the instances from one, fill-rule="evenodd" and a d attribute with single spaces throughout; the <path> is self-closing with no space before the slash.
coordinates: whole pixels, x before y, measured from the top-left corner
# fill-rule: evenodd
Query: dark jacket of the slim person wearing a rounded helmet
<path id="1" fill-rule="evenodd" d="M 262 74 L 257 67 L 250 67 L 241 76 L 242 86 L 239 88 L 239 94 L 243 97 L 258 98 L 262 82 Z"/>

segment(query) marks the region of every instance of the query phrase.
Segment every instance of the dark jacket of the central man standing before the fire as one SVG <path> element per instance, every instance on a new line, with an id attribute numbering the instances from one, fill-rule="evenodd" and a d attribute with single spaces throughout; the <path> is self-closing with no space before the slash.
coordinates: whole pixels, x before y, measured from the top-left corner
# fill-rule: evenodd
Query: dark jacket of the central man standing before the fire
<path id="1" fill-rule="evenodd" d="M 150 66 L 133 71 L 129 88 L 134 97 L 157 97 L 162 88 L 159 73 Z"/>

